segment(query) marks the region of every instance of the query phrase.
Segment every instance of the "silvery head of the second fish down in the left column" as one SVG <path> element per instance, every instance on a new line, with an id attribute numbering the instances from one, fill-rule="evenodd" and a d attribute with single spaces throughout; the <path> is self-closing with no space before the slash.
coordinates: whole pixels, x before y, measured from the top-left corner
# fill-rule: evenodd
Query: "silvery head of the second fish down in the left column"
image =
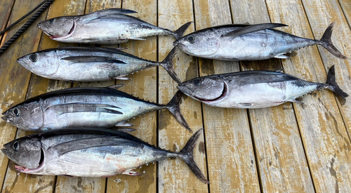
<path id="1" fill-rule="evenodd" d="M 57 72 L 60 66 L 58 54 L 53 50 L 29 53 L 18 58 L 17 62 L 39 76 L 51 76 Z"/>

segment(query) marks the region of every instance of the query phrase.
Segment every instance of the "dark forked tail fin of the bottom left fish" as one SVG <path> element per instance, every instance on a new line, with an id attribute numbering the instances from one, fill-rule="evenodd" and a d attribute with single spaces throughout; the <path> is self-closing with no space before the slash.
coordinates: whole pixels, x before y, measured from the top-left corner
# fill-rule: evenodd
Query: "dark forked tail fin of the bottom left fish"
<path id="1" fill-rule="evenodd" d="M 197 176 L 197 178 L 201 180 L 201 182 L 209 184 L 210 182 L 206 179 L 205 175 L 201 172 L 199 166 L 197 166 L 194 161 L 194 147 L 203 130 L 204 129 L 201 128 L 199 131 L 194 133 L 194 135 L 192 135 L 190 140 L 187 141 L 187 145 L 185 145 L 185 147 L 180 151 L 179 157 L 185 161 L 190 170 Z"/>

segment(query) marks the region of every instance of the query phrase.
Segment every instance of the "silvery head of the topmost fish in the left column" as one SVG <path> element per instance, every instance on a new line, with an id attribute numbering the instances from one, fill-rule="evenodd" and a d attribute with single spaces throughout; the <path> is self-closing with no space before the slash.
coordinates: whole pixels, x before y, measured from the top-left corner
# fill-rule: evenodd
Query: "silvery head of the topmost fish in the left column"
<path id="1" fill-rule="evenodd" d="M 63 16 L 39 22 L 39 29 L 43 30 L 51 39 L 64 38 L 71 35 L 76 28 L 75 17 Z"/>

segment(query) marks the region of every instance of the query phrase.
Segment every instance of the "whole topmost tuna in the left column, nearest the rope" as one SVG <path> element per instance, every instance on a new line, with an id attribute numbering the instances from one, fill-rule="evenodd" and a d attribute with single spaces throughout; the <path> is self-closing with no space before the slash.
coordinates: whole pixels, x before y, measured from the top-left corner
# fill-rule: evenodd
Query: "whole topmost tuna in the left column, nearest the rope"
<path id="1" fill-rule="evenodd" d="M 38 27 L 55 41 L 81 44 L 121 44 L 144 40 L 146 36 L 171 35 L 180 39 L 189 27 L 187 22 L 175 32 L 147 23 L 124 13 L 135 11 L 108 8 L 86 15 L 63 16 L 40 22 Z"/>

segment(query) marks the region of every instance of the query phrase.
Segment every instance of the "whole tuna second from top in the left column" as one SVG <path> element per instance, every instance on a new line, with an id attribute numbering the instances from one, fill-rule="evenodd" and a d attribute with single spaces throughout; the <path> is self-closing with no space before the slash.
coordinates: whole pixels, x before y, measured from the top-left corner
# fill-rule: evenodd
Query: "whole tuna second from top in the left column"
<path id="1" fill-rule="evenodd" d="M 176 51 L 173 48 L 162 62 L 152 62 L 114 48 L 67 47 L 30 53 L 17 62 L 34 74 L 64 81 L 127 79 L 128 74 L 161 65 L 180 84 L 173 69 Z"/>

